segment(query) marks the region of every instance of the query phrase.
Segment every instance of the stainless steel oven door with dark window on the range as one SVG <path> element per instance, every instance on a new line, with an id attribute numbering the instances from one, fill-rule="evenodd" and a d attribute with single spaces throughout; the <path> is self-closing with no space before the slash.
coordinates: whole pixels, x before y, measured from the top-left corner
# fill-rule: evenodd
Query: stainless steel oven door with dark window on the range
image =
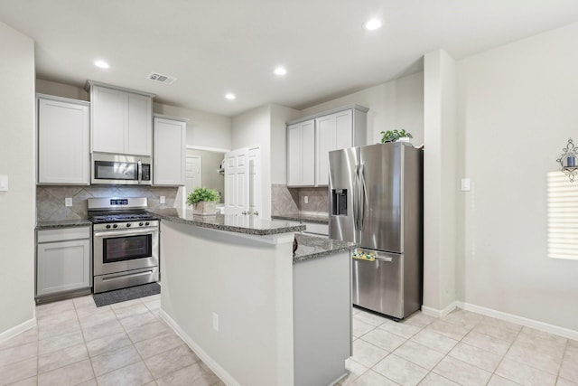
<path id="1" fill-rule="evenodd" d="M 95 231 L 94 275 L 106 275 L 159 265 L 158 228 Z"/>

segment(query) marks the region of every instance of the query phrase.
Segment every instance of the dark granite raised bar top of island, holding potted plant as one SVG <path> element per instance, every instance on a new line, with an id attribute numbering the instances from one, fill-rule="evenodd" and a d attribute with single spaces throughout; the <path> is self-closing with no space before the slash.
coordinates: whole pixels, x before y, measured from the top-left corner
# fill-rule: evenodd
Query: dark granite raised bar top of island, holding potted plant
<path id="1" fill-rule="evenodd" d="M 162 220 L 195 225 L 218 231 L 231 231 L 266 236 L 279 233 L 304 231 L 305 226 L 294 221 L 271 221 L 256 216 L 244 216 L 236 214 L 216 214 L 214 216 L 193 215 L 191 210 L 180 209 L 155 209 L 149 212 L 160 217 Z"/>

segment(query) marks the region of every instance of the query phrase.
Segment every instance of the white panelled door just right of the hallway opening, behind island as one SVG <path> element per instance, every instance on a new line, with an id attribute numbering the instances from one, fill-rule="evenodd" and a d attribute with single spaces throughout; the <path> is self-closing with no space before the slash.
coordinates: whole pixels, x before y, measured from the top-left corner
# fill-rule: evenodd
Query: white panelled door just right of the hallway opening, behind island
<path id="1" fill-rule="evenodd" d="M 249 149 L 225 154 L 225 213 L 249 212 Z"/>

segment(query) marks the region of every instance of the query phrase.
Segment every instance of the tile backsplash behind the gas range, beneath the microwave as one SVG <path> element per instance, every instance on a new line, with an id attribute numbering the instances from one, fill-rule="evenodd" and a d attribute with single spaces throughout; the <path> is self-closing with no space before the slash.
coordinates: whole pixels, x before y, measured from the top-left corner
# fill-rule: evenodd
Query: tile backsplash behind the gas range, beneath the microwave
<path id="1" fill-rule="evenodd" d="M 36 186 L 36 221 L 86 219 L 89 216 L 87 199 L 97 197 L 146 197 L 149 208 L 173 208 L 178 187 L 157 186 Z M 160 197 L 165 203 L 160 203 Z M 72 197 L 72 206 L 64 199 Z"/>

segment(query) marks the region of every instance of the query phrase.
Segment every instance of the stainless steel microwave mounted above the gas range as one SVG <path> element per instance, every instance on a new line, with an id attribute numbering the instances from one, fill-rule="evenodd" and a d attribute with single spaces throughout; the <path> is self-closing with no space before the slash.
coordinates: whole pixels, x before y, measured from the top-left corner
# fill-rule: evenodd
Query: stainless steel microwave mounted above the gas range
<path id="1" fill-rule="evenodd" d="M 92 154 L 91 184 L 150 185 L 153 158 L 140 155 Z"/>

